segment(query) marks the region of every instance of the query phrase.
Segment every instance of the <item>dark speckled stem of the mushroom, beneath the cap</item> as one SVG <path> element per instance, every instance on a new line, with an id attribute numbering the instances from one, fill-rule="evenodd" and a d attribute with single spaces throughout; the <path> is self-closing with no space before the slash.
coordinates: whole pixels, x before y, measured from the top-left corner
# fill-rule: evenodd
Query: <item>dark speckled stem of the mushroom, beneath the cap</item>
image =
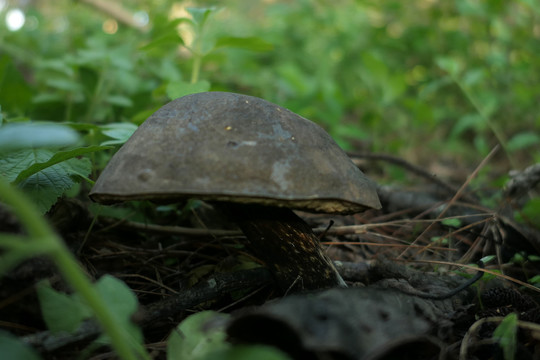
<path id="1" fill-rule="evenodd" d="M 224 207 L 283 292 L 347 286 L 317 235 L 292 210 L 232 203 Z"/>

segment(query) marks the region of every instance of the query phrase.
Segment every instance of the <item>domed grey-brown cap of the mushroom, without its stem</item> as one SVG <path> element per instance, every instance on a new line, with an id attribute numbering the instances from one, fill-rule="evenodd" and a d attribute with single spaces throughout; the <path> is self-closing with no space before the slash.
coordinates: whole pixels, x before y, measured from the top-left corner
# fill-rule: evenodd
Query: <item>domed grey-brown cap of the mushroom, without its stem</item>
<path id="1" fill-rule="evenodd" d="M 240 94 L 184 96 L 112 157 L 92 200 L 186 198 L 325 212 L 380 208 L 375 185 L 315 123 Z"/>

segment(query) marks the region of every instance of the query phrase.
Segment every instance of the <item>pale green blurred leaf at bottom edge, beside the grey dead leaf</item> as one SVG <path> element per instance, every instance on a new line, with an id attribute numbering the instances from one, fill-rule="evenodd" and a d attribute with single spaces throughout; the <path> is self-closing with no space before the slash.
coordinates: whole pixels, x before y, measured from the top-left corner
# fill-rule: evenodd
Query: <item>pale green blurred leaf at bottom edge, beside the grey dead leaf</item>
<path id="1" fill-rule="evenodd" d="M 167 343 L 167 360 L 201 360 L 226 350 L 225 320 L 228 315 L 203 311 L 187 317 L 178 325 Z"/>

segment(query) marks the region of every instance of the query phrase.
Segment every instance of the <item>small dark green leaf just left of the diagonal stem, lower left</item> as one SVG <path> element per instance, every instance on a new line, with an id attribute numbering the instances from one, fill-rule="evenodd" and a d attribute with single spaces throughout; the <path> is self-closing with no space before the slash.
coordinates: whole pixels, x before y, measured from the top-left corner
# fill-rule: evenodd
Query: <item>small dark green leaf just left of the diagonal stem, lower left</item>
<path id="1" fill-rule="evenodd" d="M 54 290 L 48 283 L 40 284 L 37 294 L 43 320 L 52 332 L 73 332 L 91 316 L 88 307 L 80 300 Z"/>

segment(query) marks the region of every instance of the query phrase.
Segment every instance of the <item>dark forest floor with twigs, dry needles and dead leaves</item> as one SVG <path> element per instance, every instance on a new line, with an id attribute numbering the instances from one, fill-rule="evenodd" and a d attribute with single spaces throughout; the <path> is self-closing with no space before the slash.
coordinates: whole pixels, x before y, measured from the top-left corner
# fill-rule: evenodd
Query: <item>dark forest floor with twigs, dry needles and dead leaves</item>
<path id="1" fill-rule="evenodd" d="M 269 344 L 295 359 L 496 359 L 509 346 L 515 358 L 539 358 L 539 290 L 531 279 L 539 275 L 540 235 L 514 221 L 532 180 L 470 193 L 468 184 L 454 187 L 401 165 L 417 176 L 415 186 L 379 186 L 382 210 L 298 213 L 320 235 L 347 289 L 282 294 L 242 234 L 204 203 L 190 203 L 181 216 L 140 204 L 152 226 L 127 216 L 101 215 L 94 223 L 86 199 L 62 200 L 47 217 L 91 278 L 110 274 L 134 291 L 140 310 L 133 321 L 156 359 L 166 358 L 178 323 L 204 310 L 232 314 L 231 341 Z M 489 196 L 501 199 L 496 209 L 482 205 Z M 0 210 L 0 228 L 22 231 Z M 478 281 L 461 289 L 471 278 Z M 69 293 L 45 258 L 0 280 L 2 328 L 45 359 L 75 358 L 98 329 L 48 331 L 35 291 L 44 279 Z M 509 345 L 494 331 L 511 313 L 519 321 Z M 113 358 L 108 351 L 90 358 Z"/>

